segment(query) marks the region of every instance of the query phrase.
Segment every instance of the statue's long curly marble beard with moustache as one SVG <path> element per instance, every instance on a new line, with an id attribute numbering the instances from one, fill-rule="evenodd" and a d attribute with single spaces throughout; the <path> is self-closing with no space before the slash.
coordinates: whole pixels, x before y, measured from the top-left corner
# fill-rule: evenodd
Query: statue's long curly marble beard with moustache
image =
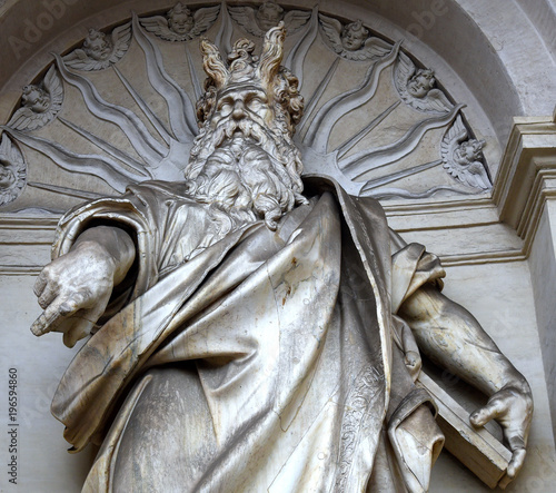
<path id="1" fill-rule="evenodd" d="M 252 119 L 203 130 L 185 172 L 189 194 L 210 205 L 220 234 L 258 219 L 274 230 L 285 213 L 307 203 L 299 150 L 289 137 Z"/>

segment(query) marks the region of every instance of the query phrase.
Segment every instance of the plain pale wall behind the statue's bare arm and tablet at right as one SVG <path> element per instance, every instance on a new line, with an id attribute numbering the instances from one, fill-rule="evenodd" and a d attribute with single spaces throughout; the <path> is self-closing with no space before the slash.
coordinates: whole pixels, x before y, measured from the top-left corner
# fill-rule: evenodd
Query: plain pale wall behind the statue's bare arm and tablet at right
<path id="1" fill-rule="evenodd" d="M 444 293 L 463 304 L 483 324 L 498 347 L 529 381 L 535 398 L 535 420 L 520 477 L 508 492 L 550 491 L 556 481 L 556 456 L 550 433 L 540 341 L 526 262 L 459 266 L 447 269 Z M 454 381 L 457 391 L 458 382 Z M 448 454 L 433 471 L 431 492 L 487 492 Z"/>

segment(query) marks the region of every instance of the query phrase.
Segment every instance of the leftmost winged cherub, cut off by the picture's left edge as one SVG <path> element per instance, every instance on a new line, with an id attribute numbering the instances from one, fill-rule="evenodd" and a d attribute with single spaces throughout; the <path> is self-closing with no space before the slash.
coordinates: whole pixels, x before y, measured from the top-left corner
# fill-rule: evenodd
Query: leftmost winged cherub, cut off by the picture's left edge
<path id="1" fill-rule="evenodd" d="M 16 200 L 27 180 L 27 165 L 21 150 L 6 135 L 0 140 L 0 206 Z"/>

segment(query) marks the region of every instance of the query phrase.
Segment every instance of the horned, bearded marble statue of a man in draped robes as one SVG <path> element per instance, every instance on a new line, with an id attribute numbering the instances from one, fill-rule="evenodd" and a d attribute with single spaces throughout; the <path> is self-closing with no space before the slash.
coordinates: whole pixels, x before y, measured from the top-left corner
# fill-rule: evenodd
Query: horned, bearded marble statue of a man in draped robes
<path id="1" fill-rule="evenodd" d="M 208 79 L 183 183 L 149 181 L 60 221 L 36 335 L 93 333 L 52 403 L 83 491 L 426 491 L 443 444 L 419 349 L 490 396 L 508 475 L 532 415 L 525 378 L 441 293 L 444 270 L 379 204 L 301 181 L 298 81 L 282 26 Z"/>

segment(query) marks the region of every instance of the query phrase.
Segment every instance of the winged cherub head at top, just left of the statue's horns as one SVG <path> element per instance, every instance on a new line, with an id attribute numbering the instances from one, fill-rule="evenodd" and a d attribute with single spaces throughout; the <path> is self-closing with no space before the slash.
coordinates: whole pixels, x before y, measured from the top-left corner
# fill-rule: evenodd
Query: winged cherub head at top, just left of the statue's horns
<path id="1" fill-rule="evenodd" d="M 141 26 L 166 41 L 189 41 L 210 29 L 219 12 L 220 6 L 191 12 L 183 3 L 178 2 L 166 16 L 142 18 Z"/>

